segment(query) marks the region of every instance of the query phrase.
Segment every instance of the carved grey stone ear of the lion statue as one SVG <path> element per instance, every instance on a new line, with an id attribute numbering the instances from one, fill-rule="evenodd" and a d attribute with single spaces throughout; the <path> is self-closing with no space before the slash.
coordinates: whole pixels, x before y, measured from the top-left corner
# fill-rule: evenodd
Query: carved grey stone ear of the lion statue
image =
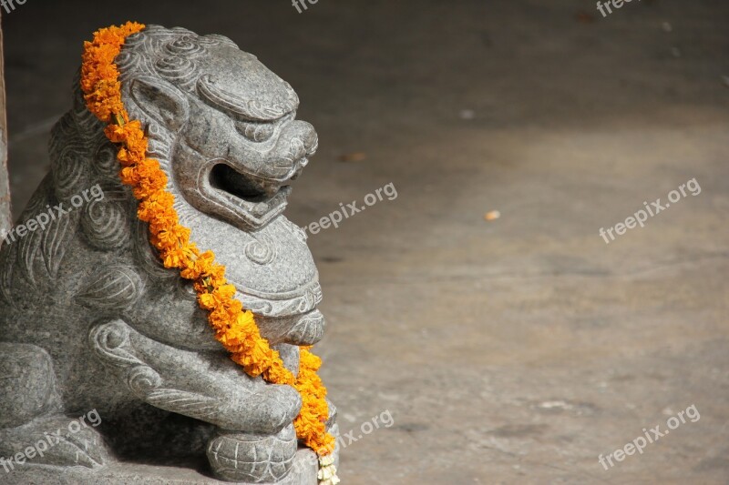
<path id="1" fill-rule="evenodd" d="M 171 84 L 154 77 L 132 81 L 131 96 L 137 106 L 161 126 L 177 133 L 190 117 L 190 103 Z"/>

